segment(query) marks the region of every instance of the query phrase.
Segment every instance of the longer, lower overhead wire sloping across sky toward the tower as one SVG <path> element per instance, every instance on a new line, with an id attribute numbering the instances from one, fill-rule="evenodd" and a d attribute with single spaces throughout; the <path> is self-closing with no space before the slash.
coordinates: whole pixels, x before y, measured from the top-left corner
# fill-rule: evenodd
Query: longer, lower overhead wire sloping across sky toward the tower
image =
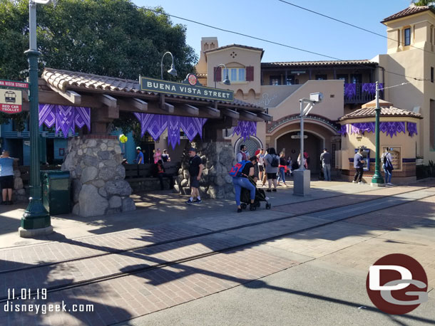
<path id="1" fill-rule="evenodd" d="M 151 8 L 148 8 L 148 7 L 143 7 L 143 9 L 151 11 L 151 12 L 153 12 L 155 14 L 158 14 L 158 15 L 168 16 L 168 17 L 172 17 L 172 18 L 175 18 L 175 19 L 180 19 L 182 21 L 189 21 L 190 23 L 195 23 L 195 24 L 198 24 L 200 26 L 205 26 L 205 27 L 208 27 L 208 28 L 213 28 L 213 29 L 216 29 L 218 31 L 224 31 L 226 33 L 232 33 L 232 34 L 235 34 L 235 35 L 245 36 L 247 38 L 252 38 L 252 39 L 255 39 L 257 41 L 263 41 L 263 42 L 266 42 L 266 43 L 275 44 L 277 46 L 284 46 L 285 48 L 292 48 L 292 49 L 297 50 L 297 51 L 302 51 L 302 52 L 306 52 L 306 53 L 312 53 L 312 54 L 314 54 L 316 56 L 322 56 L 324 58 L 334 59 L 336 61 L 347 61 L 347 60 L 344 60 L 344 59 L 335 58 L 333 56 L 327 56 L 326 54 L 322 54 L 322 53 L 317 53 L 317 52 L 314 52 L 314 51 L 305 50 L 303 48 L 297 48 L 295 46 L 289 46 L 288 44 L 285 44 L 285 43 L 270 41 L 270 40 L 267 40 L 265 38 L 260 38 L 260 37 L 257 37 L 257 36 L 251 36 L 251 35 L 248 35 L 248 34 L 245 34 L 245 33 L 237 32 L 237 31 L 231 31 L 229 29 L 220 28 L 220 27 L 217 27 L 217 26 L 210 25 L 208 23 L 201 23 L 200 21 L 194 21 L 193 19 L 186 19 L 186 18 L 183 18 L 183 17 L 180 17 L 180 16 L 175 16 L 173 14 L 168 14 L 168 13 L 163 12 L 163 11 L 157 11 L 155 9 L 151 9 Z M 362 66 L 364 68 L 374 69 L 374 68 L 370 67 L 369 65 L 364 65 L 362 63 L 356 63 L 355 65 L 359 65 L 359 66 Z M 384 69 L 384 68 L 382 68 L 382 69 Z M 404 78 L 418 80 L 418 81 L 430 80 L 430 79 L 424 79 L 424 78 L 418 78 L 418 77 L 412 77 L 412 76 L 408 76 L 408 75 L 403 75 L 401 73 L 394 73 L 393 71 L 389 71 L 389 70 L 386 70 L 386 69 L 384 69 L 384 72 L 385 73 L 391 73 L 393 75 L 399 75 L 399 76 L 404 77 Z"/>

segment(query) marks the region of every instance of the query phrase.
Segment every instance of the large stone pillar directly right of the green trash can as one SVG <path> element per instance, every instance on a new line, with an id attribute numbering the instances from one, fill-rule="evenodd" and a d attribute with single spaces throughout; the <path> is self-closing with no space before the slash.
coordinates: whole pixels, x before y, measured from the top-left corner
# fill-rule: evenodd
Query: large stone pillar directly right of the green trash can
<path id="1" fill-rule="evenodd" d="M 122 160 L 115 136 L 86 135 L 68 141 L 61 169 L 71 174 L 74 214 L 88 217 L 135 210 Z"/>

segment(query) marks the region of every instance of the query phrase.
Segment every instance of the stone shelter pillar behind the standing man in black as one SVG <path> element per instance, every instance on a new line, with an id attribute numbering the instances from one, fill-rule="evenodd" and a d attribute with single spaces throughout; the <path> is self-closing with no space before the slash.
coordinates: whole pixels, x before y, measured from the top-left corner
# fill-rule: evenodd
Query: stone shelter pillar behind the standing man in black
<path id="1" fill-rule="evenodd" d="M 235 164 L 234 151 L 231 142 L 193 142 L 188 147 L 198 149 L 198 155 L 205 162 L 203 175 L 200 179 L 200 196 L 205 198 L 222 199 L 234 198 L 235 191 L 232 185 L 232 177 L 228 174 Z M 175 179 L 174 191 L 179 194 L 190 194 L 188 180 L 188 147 L 185 149 Z"/>

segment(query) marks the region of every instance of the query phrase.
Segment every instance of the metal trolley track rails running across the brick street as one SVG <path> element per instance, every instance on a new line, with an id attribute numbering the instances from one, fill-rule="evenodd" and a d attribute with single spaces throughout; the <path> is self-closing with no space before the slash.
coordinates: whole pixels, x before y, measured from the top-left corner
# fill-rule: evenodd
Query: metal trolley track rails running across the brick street
<path id="1" fill-rule="evenodd" d="M 379 198 L 379 199 L 373 199 L 373 200 L 369 200 L 369 201 L 363 201 L 363 204 L 366 204 L 366 205 L 361 206 L 360 208 L 369 208 L 371 206 L 380 206 L 377 209 L 372 209 L 372 211 L 370 211 L 370 212 L 380 211 L 380 210 L 386 209 L 388 207 L 386 207 L 384 204 L 374 204 L 374 203 L 372 203 L 373 201 L 380 201 L 381 199 L 389 199 L 389 197 L 399 196 L 401 194 L 411 194 L 411 193 L 414 193 L 416 191 L 424 191 L 425 189 L 429 189 L 429 188 L 430 187 L 424 187 L 424 188 L 415 189 L 415 190 L 412 190 L 412 191 L 404 191 L 404 192 L 401 192 L 399 194 L 394 194 L 394 195 L 389 195 L 389 196 L 382 196 L 382 198 Z M 344 195 L 344 196 L 346 196 L 346 195 Z M 409 204 L 409 203 L 414 202 L 414 201 L 421 201 L 421 200 L 429 198 L 431 196 L 435 196 L 435 194 L 434 193 L 427 194 L 426 196 L 421 196 L 421 198 L 418 198 L 418 199 L 412 199 L 411 198 L 411 199 L 408 199 L 408 200 L 404 200 L 403 202 L 399 202 L 399 203 L 394 204 L 394 206 L 399 206 L 399 205 L 403 205 L 403 204 Z M 305 212 L 303 214 L 298 214 L 298 215 L 295 215 L 295 216 L 282 216 L 282 217 L 277 218 L 277 219 L 272 219 L 272 220 L 267 220 L 267 221 L 259 221 L 259 222 L 255 222 L 255 223 L 252 223 L 252 224 L 243 224 L 242 226 L 235 226 L 235 227 L 231 227 L 231 228 L 220 229 L 220 230 L 217 230 L 217 231 L 210 231 L 210 232 L 206 232 L 206 233 L 201 233 L 201 234 L 197 234 L 197 235 L 194 235 L 194 236 L 187 236 L 187 237 L 183 237 L 183 238 L 171 239 L 171 240 L 168 240 L 168 241 L 161 241 L 159 243 L 151 243 L 151 244 L 145 245 L 145 246 L 138 246 L 138 247 L 135 247 L 135 248 L 128 248 L 128 249 L 123 249 L 123 250 L 120 250 L 120 251 L 114 251 L 114 252 L 110 252 L 110 253 L 102 253 L 100 255 L 93 255 L 93 256 L 86 256 L 86 257 L 80 257 L 80 258 L 73 258 L 73 259 L 69 259 L 69 260 L 65 260 L 65 261 L 57 261 L 57 262 L 48 263 L 48 264 L 39 264 L 39 265 L 26 266 L 26 268 L 16 268 L 16 269 L 13 269 L 13 270 L 12 269 L 11 270 L 4 270 L 1 273 L 5 274 L 5 273 L 12 273 L 12 272 L 17 272 L 17 271 L 31 270 L 31 269 L 34 269 L 34 268 L 44 268 L 44 267 L 48 267 L 50 265 L 58 265 L 58 264 L 61 264 L 61 263 L 69 263 L 69 262 L 80 261 L 80 260 L 90 259 L 90 258 L 97 258 L 97 257 L 107 256 L 107 255 L 112 255 L 112 254 L 117 254 L 117 253 L 125 253 L 125 252 L 128 252 L 128 251 L 137 251 L 137 250 L 140 250 L 140 249 L 145 249 L 145 248 L 154 247 L 154 246 L 161 246 L 161 245 L 168 244 L 168 243 L 174 243 L 175 244 L 175 243 L 180 242 L 180 241 L 187 241 L 187 240 L 191 240 L 191 239 L 194 239 L 194 238 L 206 237 L 206 236 L 210 236 L 210 235 L 213 235 L 213 234 L 216 234 L 216 233 L 225 233 L 226 231 L 233 231 L 233 230 L 237 230 L 237 229 L 240 229 L 240 228 L 249 228 L 249 227 L 258 226 L 258 225 L 261 225 L 261 224 L 273 223 L 275 221 L 282 221 L 282 220 L 285 220 L 285 219 L 292 219 L 292 218 L 295 218 L 297 216 L 318 213 L 320 211 L 325 211 L 325 213 L 327 213 L 327 211 L 333 211 L 334 209 L 339 209 L 339 208 L 342 208 L 344 206 L 354 206 L 354 205 L 358 205 L 358 204 L 362 204 L 362 203 L 359 202 L 359 203 L 352 203 L 352 204 L 344 204 L 344 205 L 332 206 L 329 209 L 319 209 L 319 210 L 309 211 L 309 212 Z M 393 205 L 391 205 L 391 206 L 393 206 Z M 350 209 L 350 210 L 349 209 L 344 210 L 344 212 L 349 212 L 349 211 L 352 211 L 352 209 Z M 332 214 L 334 214 L 334 213 L 332 213 Z M 198 255 L 186 256 L 184 258 L 175 259 L 173 261 L 165 261 L 163 263 L 155 263 L 155 265 L 146 265 L 145 267 L 131 268 L 130 270 L 120 271 L 118 273 L 111 273 L 111 274 L 108 274 L 108 275 L 102 275 L 102 276 L 96 277 L 96 278 L 88 278 L 86 280 L 80 280 L 80 281 L 76 281 L 76 282 L 69 282 L 69 283 L 66 283 L 66 284 L 51 286 L 51 287 L 47 288 L 47 293 L 53 293 L 53 292 L 57 292 L 57 291 L 61 291 L 61 290 L 67 290 L 67 289 L 71 289 L 71 288 L 77 288 L 77 287 L 81 287 L 81 286 L 85 286 L 85 285 L 91 285 L 93 283 L 99 283 L 99 282 L 106 281 L 106 280 L 113 280 L 113 279 L 122 278 L 122 277 L 125 277 L 125 276 L 128 276 L 128 275 L 134 275 L 134 274 L 138 274 L 138 273 L 148 272 L 150 270 L 156 270 L 156 269 L 159 269 L 159 268 L 165 268 L 165 267 L 168 267 L 170 265 L 176 265 L 176 264 L 180 264 L 180 263 L 186 263 L 186 262 L 189 262 L 189 261 L 195 261 L 195 260 L 200 259 L 200 258 L 205 258 L 205 257 L 208 257 L 208 256 L 217 255 L 218 253 L 225 253 L 225 252 L 228 252 L 228 251 L 235 251 L 237 249 L 253 246 L 255 244 L 263 243 L 265 241 L 272 241 L 272 240 L 275 240 L 277 238 L 282 238 L 284 236 L 290 236 L 290 235 L 295 234 L 295 233 L 300 233 L 300 232 L 304 232 L 304 231 L 310 231 L 310 230 L 312 230 L 314 228 L 319 228 L 319 227 L 322 227 L 322 226 L 327 226 L 329 224 L 334 224 L 334 223 L 339 222 L 339 221 L 345 221 L 347 219 L 351 219 L 354 216 L 358 216 L 361 213 L 357 212 L 356 214 L 354 214 L 352 216 L 347 216 L 347 217 L 340 218 L 340 219 L 335 219 L 335 220 L 332 220 L 332 221 L 328 220 L 327 216 L 331 216 L 332 214 L 331 213 L 324 214 L 324 216 L 326 217 L 325 222 L 321 223 L 321 224 L 317 224 L 315 226 L 309 226 L 309 227 L 306 227 L 306 228 L 297 229 L 295 231 L 275 234 L 273 236 L 261 238 L 259 240 L 255 240 L 255 241 L 248 241 L 247 240 L 245 243 L 237 244 L 235 246 L 226 246 L 225 248 L 222 248 L 220 250 L 210 251 L 208 253 L 200 253 Z M 34 295 L 34 293 L 31 293 L 31 295 Z M 7 300 L 8 300 L 8 298 L 6 296 L 5 297 L 0 297 L 0 303 L 5 303 Z"/>

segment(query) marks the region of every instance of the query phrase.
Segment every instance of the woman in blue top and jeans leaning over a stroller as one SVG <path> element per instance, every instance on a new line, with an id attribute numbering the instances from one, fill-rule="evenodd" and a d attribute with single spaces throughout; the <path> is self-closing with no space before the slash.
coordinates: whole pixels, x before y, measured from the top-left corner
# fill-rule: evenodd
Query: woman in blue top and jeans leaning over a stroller
<path id="1" fill-rule="evenodd" d="M 255 169 L 254 165 L 257 164 L 257 157 L 253 156 L 249 161 L 237 162 L 237 164 L 232 167 L 230 171 L 230 176 L 232 176 L 232 184 L 234 184 L 235 189 L 235 204 L 237 205 L 237 213 L 242 211 L 240 206 L 240 193 L 242 188 L 250 191 L 251 204 L 249 206 L 250 211 L 255 210 L 254 200 L 255 200 L 255 186 L 248 179 L 249 177 L 254 177 Z"/>

